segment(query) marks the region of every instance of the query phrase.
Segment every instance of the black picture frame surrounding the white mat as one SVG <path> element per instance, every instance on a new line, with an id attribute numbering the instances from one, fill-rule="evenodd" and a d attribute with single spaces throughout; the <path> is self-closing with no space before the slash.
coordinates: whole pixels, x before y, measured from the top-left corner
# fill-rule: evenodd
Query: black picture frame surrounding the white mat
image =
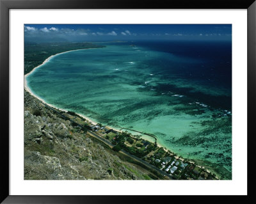
<path id="1" fill-rule="evenodd" d="M 246 9 L 248 13 L 248 194 L 247 196 L 13 196 L 9 189 L 9 11 L 10 9 Z M 148 203 L 164 201 L 255 202 L 255 87 L 256 87 L 256 2 L 255 0 L 0 0 L 0 115 L 1 115 L 1 197 L 3 203 Z"/>

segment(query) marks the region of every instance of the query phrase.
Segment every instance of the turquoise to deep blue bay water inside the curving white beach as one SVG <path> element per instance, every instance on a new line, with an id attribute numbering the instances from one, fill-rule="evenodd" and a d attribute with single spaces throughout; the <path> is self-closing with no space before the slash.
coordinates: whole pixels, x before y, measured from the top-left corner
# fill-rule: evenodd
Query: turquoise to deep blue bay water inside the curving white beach
<path id="1" fill-rule="evenodd" d="M 27 77 L 28 86 L 56 107 L 154 134 L 182 157 L 231 171 L 231 54 L 196 57 L 134 44 L 54 56 Z"/>

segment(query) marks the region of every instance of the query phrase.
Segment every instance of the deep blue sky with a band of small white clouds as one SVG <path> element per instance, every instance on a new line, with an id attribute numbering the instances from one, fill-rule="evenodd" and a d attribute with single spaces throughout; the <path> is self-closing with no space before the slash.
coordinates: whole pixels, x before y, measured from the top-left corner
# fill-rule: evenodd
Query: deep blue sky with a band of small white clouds
<path id="1" fill-rule="evenodd" d="M 228 40 L 231 24 L 25 24 L 25 42 Z"/>

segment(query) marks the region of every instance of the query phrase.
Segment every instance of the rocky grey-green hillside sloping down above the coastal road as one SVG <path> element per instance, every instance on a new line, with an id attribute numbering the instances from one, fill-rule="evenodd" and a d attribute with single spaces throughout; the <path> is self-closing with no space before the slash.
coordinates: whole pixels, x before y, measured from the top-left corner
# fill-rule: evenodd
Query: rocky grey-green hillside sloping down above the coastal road
<path id="1" fill-rule="evenodd" d="M 24 179 L 148 179 L 148 172 L 24 93 Z"/>

